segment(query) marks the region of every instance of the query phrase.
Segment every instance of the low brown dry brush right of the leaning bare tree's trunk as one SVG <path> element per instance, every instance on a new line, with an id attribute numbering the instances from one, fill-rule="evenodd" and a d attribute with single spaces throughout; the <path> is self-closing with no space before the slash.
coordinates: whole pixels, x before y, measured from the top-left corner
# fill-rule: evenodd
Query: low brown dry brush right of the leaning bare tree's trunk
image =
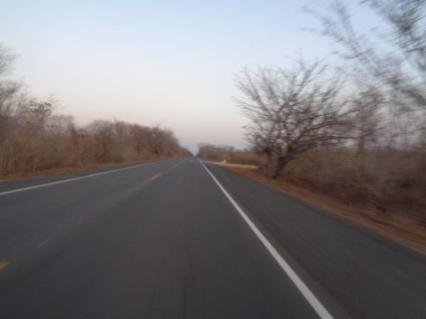
<path id="1" fill-rule="evenodd" d="M 316 149 L 280 178 L 352 206 L 414 218 L 426 226 L 425 154 L 415 150 Z"/>

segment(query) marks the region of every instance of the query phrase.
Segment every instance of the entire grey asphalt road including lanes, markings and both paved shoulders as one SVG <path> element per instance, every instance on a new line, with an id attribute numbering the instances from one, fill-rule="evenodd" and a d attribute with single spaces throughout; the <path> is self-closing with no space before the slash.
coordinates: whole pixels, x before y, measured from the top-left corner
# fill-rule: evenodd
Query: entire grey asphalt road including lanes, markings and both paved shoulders
<path id="1" fill-rule="evenodd" d="M 0 182 L 0 318 L 426 318 L 423 257 L 206 166 Z"/>

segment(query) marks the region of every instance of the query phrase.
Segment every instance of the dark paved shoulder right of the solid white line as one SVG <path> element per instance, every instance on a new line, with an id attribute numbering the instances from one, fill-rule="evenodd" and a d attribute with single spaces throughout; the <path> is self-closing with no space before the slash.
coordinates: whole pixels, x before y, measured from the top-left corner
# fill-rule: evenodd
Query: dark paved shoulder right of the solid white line
<path id="1" fill-rule="evenodd" d="M 312 289 L 354 318 L 426 318 L 426 259 L 347 220 L 206 164 Z"/>

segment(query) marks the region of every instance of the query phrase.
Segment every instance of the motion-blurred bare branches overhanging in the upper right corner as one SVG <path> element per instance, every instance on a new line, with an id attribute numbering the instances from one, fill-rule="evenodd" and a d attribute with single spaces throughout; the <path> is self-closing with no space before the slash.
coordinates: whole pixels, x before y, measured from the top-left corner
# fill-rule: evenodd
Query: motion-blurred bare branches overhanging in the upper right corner
<path id="1" fill-rule="evenodd" d="M 333 0 L 325 13 L 310 9 L 320 33 L 339 45 L 339 55 L 355 62 L 362 82 L 399 97 L 398 111 L 426 110 L 426 0 L 364 0 L 388 27 L 380 36 L 354 28 L 345 1 Z"/>

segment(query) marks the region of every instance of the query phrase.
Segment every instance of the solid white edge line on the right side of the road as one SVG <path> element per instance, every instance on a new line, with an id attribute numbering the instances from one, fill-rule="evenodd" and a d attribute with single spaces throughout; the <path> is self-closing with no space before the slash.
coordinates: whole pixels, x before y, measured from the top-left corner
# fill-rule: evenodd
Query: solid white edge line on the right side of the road
<path id="1" fill-rule="evenodd" d="M 231 204 L 234 206 L 236 211 L 241 215 L 241 217 L 246 221 L 246 223 L 249 225 L 251 230 L 253 230 L 253 233 L 256 234 L 259 240 L 261 240 L 262 244 L 266 247 L 266 250 L 271 253 L 272 257 L 275 259 L 276 262 L 280 265 L 280 267 L 283 269 L 285 274 L 288 275 L 288 277 L 293 281 L 293 284 L 299 289 L 300 293 L 305 297 L 308 303 L 314 308 L 317 315 L 320 316 L 321 319 L 334 319 L 332 315 L 327 311 L 327 309 L 322 306 L 322 303 L 315 297 L 315 295 L 310 291 L 310 289 L 306 286 L 306 284 L 300 279 L 299 276 L 295 273 L 295 271 L 290 267 L 288 262 L 285 261 L 283 257 L 278 253 L 277 250 L 273 247 L 271 242 L 269 242 L 266 237 L 261 233 L 260 230 L 254 225 L 254 223 L 250 220 L 249 216 L 244 213 L 242 208 L 234 201 L 234 198 L 231 197 L 231 195 L 228 194 L 228 192 L 224 189 L 224 186 L 219 183 L 219 181 L 214 177 L 212 172 L 209 171 L 209 169 L 202 163 L 200 159 L 200 164 L 206 169 L 207 173 L 209 173 L 210 177 L 216 182 L 217 186 L 219 186 L 219 189 L 225 194 L 226 198 L 229 199 Z"/>

